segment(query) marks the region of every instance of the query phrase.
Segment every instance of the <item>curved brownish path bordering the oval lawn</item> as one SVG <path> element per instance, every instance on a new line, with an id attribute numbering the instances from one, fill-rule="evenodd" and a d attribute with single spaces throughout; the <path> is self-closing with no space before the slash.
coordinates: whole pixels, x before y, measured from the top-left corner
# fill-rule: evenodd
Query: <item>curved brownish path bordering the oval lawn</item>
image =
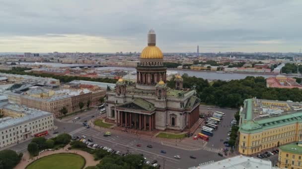
<path id="1" fill-rule="evenodd" d="M 24 153 L 20 163 L 14 169 L 25 169 L 27 165 L 29 165 L 31 162 L 33 162 L 37 159 L 40 159 L 42 157 L 52 155 L 52 154 L 58 154 L 58 153 L 74 153 L 74 154 L 78 154 L 78 155 L 82 156 L 86 160 L 85 167 L 87 167 L 87 166 L 96 166 L 100 162 L 100 160 L 94 161 L 93 156 L 91 154 L 85 152 L 85 151 L 68 150 L 68 147 L 70 147 L 70 145 L 67 145 L 63 149 L 60 149 L 60 150 L 44 151 L 39 156 L 34 157 L 33 159 L 29 159 L 30 155 L 29 155 L 28 152 L 26 152 L 26 153 Z"/>

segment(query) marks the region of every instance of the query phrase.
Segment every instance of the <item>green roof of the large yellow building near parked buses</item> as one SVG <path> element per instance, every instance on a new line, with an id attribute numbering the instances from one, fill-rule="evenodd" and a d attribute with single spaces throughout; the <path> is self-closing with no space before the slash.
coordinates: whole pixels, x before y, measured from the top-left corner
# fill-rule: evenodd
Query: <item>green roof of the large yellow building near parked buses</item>
<path id="1" fill-rule="evenodd" d="M 257 132 L 262 129 L 302 123 L 302 103 L 292 101 L 246 99 L 240 109 L 241 131 Z"/>

